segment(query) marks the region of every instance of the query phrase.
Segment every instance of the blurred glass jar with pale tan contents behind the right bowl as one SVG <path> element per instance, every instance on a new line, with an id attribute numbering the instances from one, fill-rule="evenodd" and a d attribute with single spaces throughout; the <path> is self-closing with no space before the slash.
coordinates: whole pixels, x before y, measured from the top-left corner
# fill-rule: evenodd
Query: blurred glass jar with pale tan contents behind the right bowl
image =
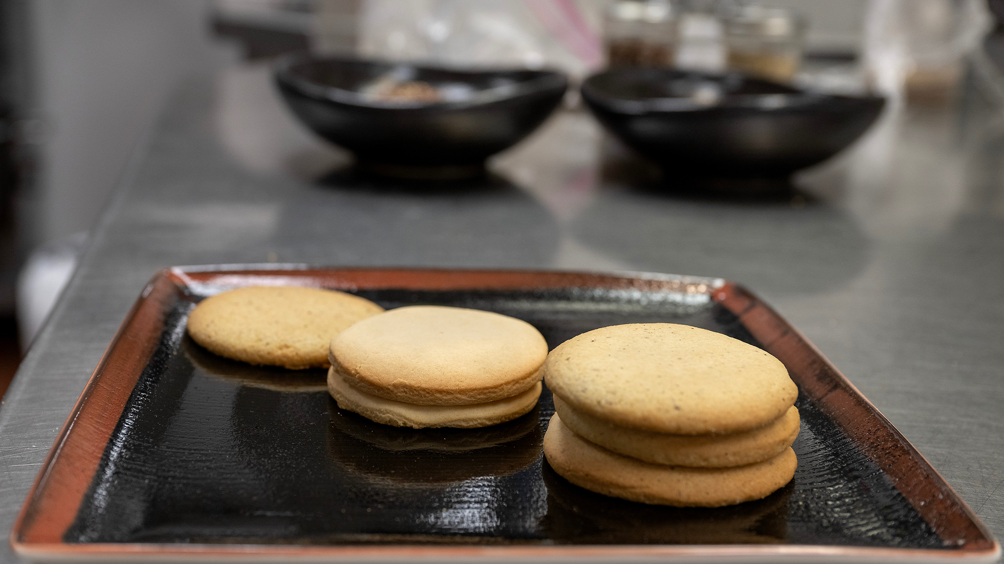
<path id="1" fill-rule="evenodd" d="M 725 15 L 727 65 L 775 82 L 791 82 L 802 59 L 805 22 L 794 12 L 756 4 Z"/>

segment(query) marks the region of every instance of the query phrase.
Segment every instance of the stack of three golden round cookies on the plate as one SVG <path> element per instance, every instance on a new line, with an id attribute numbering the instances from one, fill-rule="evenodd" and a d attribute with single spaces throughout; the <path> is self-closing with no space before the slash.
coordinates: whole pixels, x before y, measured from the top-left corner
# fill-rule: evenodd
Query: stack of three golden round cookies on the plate
<path id="1" fill-rule="evenodd" d="M 798 389 L 755 346 L 688 325 L 616 325 L 565 341 L 543 372 L 556 411 L 544 455 L 587 490 L 720 507 L 794 475 Z"/>

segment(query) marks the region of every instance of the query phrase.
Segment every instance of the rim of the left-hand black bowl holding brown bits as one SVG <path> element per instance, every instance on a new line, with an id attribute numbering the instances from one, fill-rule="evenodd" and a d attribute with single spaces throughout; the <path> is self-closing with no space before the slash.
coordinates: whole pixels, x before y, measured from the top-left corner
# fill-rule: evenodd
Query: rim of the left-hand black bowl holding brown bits
<path id="1" fill-rule="evenodd" d="M 488 88 L 478 91 L 470 98 L 463 100 L 438 101 L 438 102 L 401 102 L 401 101 L 380 101 L 367 98 L 354 90 L 347 90 L 337 86 L 320 84 L 297 76 L 292 68 L 300 63 L 326 62 L 326 63 L 362 63 L 370 65 L 388 65 L 393 68 L 411 67 L 419 70 L 446 71 L 456 74 L 483 75 L 509 72 L 529 72 L 534 74 L 527 80 L 516 82 L 513 86 Z M 390 69 L 389 69 L 390 70 Z M 293 53 L 279 58 L 273 67 L 273 75 L 280 86 L 286 86 L 304 96 L 322 100 L 364 107 L 370 109 L 387 110 L 417 110 L 417 109 L 463 109 L 486 105 L 492 102 L 514 99 L 529 94 L 543 92 L 551 89 L 560 89 L 563 93 L 568 88 L 568 77 L 557 70 L 552 69 L 531 69 L 522 67 L 451 67 L 442 64 L 411 61 L 392 61 L 384 59 L 370 59 L 363 57 L 345 56 L 319 56 L 311 53 Z"/>

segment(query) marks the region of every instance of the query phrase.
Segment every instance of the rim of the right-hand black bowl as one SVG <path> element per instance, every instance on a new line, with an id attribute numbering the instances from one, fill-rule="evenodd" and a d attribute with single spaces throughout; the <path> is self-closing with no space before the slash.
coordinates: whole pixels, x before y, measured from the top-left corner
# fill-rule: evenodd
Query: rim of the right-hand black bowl
<path id="1" fill-rule="evenodd" d="M 823 92 L 814 92 L 811 90 L 801 90 L 794 88 L 792 86 L 787 86 L 784 84 L 777 84 L 776 82 L 771 82 L 777 84 L 783 88 L 787 88 L 789 92 L 776 92 L 776 93 L 760 93 L 760 94 L 731 94 L 722 96 L 714 100 L 713 103 L 702 103 L 693 97 L 672 97 L 672 96 L 660 96 L 660 97 L 648 97 L 648 98 L 638 98 L 629 99 L 621 98 L 614 95 L 610 95 L 604 92 L 602 89 L 595 86 L 595 81 L 601 76 L 618 73 L 618 72 L 630 72 L 631 70 L 650 70 L 645 67 L 629 67 L 629 68 L 615 68 L 606 69 L 594 74 L 589 75 L 585 80 L 582 81 L 580 86 L 580 91 L 582 98 L 589 105 L 599 105 L 604 109 L 612 111 L 614 113 L 621 113 L 626 115 L 643 115 L 647 113 L 683 113 L 683 112 L 700 112 L 700 111 L 723 111 L 723 110 L 740 110 L 740 111 L 753 111 L 753 112 L 764 112 L 764 111 L 784 111 L 784 110 L 794 110 L 807 107 L 815 107 L 818 104 L 826 101 L 837 101 L 843 103 L 855 103 L 855 104 L 874 104 L 882 106 L 885 103 L 886 98 L 883 96 L 875 95 L 862 95 L 862 96 L 847 96 L 841 94 L 828 94 Z M 652 69 L 657 70 L 657 69 Z M 741 76 L 743 79 L 753 79 L 759 80 L 761 82 L 770 82 L 769 80 L 762 80 L 759 78 L 753 78 L 750 76 L 743 76 L 738 72 L 723 72 L 723 73 L 713 73 L 713 72 L 699 72 L 699 71 L 683 71 L 677 69 L 658 69 L 666 70 L 668 72 L 679 73 L 681 75 L 695 75 L 703 76 L 707 78 L 717 78 L 724 79 L 730 76 Z"/>

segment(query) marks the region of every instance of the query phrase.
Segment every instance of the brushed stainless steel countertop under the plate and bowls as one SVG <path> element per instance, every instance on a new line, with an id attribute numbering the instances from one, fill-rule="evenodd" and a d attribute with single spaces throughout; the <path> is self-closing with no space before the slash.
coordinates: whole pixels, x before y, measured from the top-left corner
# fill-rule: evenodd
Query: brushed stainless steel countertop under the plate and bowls
<path id="1" fill-rule="evenodd" d="M 738 281 L 1004 535 L 1004 111 L 970 86 L 956 108 L 893 108 L 793 198 L 737 202 L 666 195 L 580 111 L 476 187 L 376 186 L 329 174 L 345 155 L 292 120 L 266 68 L 194 81 L 138 150 L 3 400 L 0 528 L 156 270 L 278 261 Z"/>

